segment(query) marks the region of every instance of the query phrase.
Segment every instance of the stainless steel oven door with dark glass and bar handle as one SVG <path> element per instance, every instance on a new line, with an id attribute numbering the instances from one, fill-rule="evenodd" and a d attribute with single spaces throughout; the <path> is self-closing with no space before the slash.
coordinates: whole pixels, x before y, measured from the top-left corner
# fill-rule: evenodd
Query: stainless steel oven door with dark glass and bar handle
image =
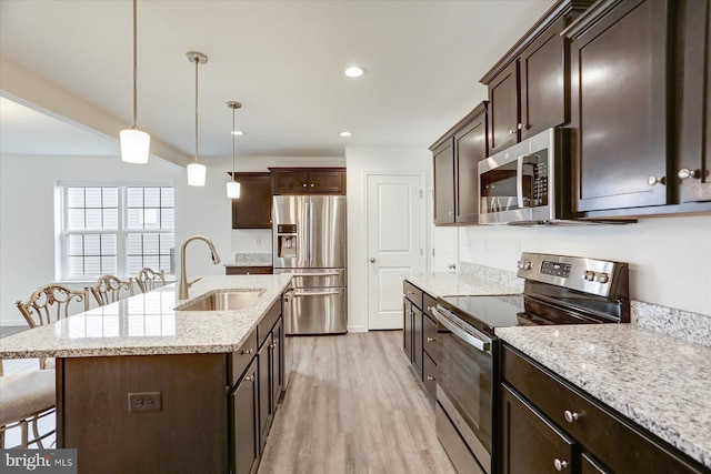
<path id="1" fill-rule="evenodd" d="M 432 312 L 438 320 L 438 404 L 483 471 L 490 473 L 493 426 L 492 339 L 441 305 L 437 305 Z M 438 417 L 438 435 L 444 431 Z M 440 440 L 443 436 L 440 435 Z M 448 448 L 447 445 L 444 447 Z"/>

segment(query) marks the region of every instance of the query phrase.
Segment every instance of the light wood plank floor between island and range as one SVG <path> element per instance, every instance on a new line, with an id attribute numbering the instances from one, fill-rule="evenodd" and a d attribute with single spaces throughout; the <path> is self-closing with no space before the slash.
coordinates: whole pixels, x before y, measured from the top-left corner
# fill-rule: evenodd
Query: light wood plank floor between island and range
<path id="1" fill-rule="evenodd" d="M 291 342 L 294 369 L 259 474 L 455 473 L 401 331 Z"/>

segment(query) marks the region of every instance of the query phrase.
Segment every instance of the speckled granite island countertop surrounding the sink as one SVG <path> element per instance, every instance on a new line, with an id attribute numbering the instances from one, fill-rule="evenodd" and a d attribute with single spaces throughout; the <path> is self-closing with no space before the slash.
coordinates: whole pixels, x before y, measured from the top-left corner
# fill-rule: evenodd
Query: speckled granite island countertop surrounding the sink
<path id="1" fill-rule="evenodd" d="M 290 274 L 203 276 L 178 300 L 177 284 L 23 331 L 0 342 L 0 357 L 89 357 L 109 355 L 232 352 L 277 301 Z M 236 311 L 174 311 L 212 290 L 259 289 L 249 307 Z"/>

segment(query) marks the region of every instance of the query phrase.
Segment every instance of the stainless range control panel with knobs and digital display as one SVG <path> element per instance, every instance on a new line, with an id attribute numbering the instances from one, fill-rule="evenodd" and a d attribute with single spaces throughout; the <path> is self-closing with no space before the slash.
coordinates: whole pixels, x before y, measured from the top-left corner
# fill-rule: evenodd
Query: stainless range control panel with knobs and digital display
<path id="1" fill-rule="evenodd" d="M 629 292 L 627 263 L 580 256 L 521 254 L 518 276 L 585 293 L 611 296 Z"/>

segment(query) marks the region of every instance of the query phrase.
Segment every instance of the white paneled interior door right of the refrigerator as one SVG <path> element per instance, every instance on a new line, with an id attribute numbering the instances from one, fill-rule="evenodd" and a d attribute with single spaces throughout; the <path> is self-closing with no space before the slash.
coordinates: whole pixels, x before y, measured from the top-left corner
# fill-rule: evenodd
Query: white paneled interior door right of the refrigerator
<path id="1" fill-rule="evenodd" d="M 368 175 L 368 329 L 402 327 L 402 280 L 424 270 L 422 177 Z"/>

